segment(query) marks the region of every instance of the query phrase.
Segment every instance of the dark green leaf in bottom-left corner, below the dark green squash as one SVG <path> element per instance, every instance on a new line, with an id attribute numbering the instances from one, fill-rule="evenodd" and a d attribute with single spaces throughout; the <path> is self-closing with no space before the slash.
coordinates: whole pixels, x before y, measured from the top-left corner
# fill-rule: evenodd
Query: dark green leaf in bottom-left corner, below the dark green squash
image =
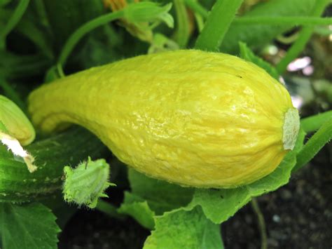
<path id="1" fill-rule="evenodd" d="M 0 203 L 2 248 L 57 248 L 60 228 L 55 215 L 41 203 L 14 205 Z"/>

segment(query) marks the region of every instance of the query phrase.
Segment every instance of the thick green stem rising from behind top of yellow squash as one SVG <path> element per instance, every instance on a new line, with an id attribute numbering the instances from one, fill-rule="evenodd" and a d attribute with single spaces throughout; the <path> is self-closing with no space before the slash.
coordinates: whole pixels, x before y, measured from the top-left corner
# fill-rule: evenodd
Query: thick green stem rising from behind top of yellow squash
<path id="1" fill-rule="evenodd" d="M 218 51 L 242 1 L 217 0 L 196 40 L 195 48 L 205 51 Z"/>

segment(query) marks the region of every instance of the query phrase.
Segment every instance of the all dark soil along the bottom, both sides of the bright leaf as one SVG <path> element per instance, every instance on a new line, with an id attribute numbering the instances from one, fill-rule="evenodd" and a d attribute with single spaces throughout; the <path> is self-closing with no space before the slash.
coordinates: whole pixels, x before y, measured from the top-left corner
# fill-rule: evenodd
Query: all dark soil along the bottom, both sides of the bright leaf
<path id="1" fill-rule="evenodd" d="M 330 144 L 322 150 L 289 184 L 258 198 L 268 248 L 332 247 L 331 148 Z M 98 211 L 80 210 L 64 228 L 60 248 L 142 248 L 149 234 L 130 218 L 120 222 Z M 258 222 L 250 204 L 222 225 L 222 234 L 226 248 L 260 248 Z"/>

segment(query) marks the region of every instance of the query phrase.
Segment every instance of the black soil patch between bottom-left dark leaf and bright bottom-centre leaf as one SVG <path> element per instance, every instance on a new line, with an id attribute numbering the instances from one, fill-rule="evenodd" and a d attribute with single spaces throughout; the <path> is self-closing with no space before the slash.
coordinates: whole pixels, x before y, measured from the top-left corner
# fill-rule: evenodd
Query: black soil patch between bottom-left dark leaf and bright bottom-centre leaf
<path id="1" fill-rule="evenodd" d="M 142 248 L 149 234 L 131 218 L 119 222 L 98 211 L 81 210 L 62 232 L 59 248 Z"/>

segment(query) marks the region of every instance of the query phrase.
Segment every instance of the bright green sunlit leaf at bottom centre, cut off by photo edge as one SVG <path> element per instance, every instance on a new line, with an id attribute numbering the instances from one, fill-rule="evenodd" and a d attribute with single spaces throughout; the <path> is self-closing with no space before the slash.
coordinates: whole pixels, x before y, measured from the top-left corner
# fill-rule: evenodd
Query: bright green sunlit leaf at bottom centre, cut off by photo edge
<path id="1" fill-rule="evenodd" d="M 208 220 L 201 208 L 179 209 L 155 217 L 155 230 L 144 249 L 223 248 L 220 234 L 220 226 Z"/>

